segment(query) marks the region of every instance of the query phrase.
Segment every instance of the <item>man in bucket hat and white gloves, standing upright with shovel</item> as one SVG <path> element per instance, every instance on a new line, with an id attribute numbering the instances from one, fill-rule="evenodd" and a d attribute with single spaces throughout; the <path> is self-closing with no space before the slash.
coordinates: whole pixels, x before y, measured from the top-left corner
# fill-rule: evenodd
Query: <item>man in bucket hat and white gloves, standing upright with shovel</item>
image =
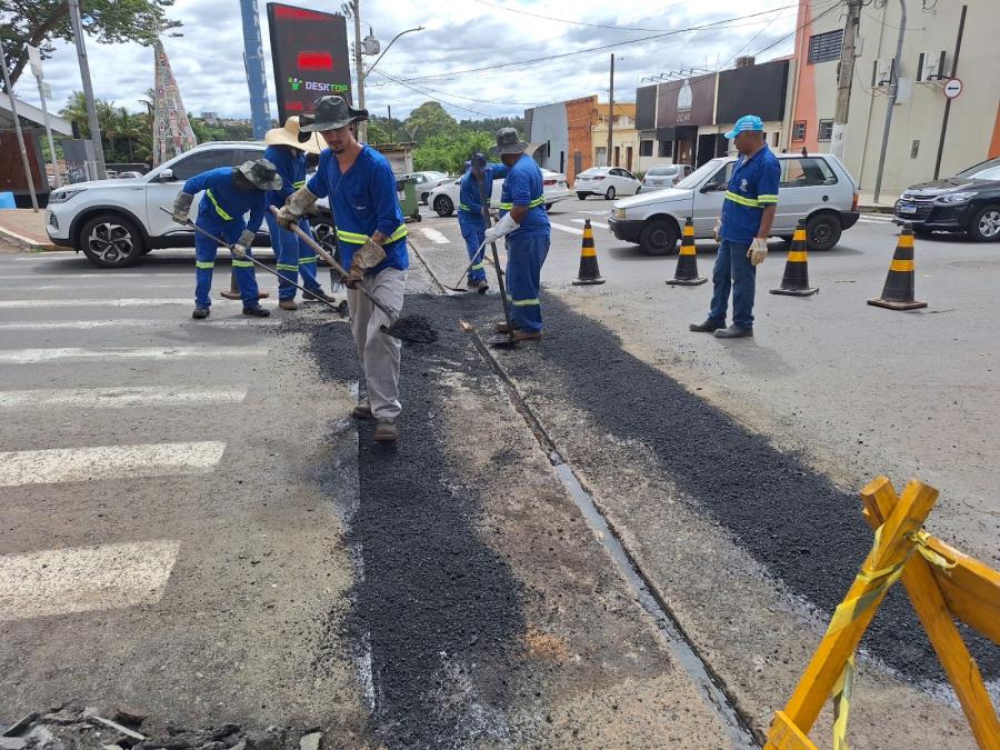
<path id="1" fill-rule="evenodd" d="M 524 153 L 527 148 L 517 130 L 501 128 L 497 144 L 490 149 L 510 170 L 500 193 L 500 221 L 486 231 L 486 239 L 496 242 L 507 238 L 507 293 L 513 330 L 508 330 L 506 322 L 494 328 L 498 333 L 510 333 L 516 341 L 541 338 L 538 292 L 552 231 L 546 213 L 541 169 Z"/>

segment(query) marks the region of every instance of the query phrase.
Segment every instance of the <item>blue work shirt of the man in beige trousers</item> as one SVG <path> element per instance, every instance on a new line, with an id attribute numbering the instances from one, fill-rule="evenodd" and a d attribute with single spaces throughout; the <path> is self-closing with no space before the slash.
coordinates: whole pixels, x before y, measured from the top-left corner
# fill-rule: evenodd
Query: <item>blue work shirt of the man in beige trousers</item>
<path id="1" fill-rule="evenodd" d="M 318 198 L 330 199 L 344 268 L 350 267 L 354 251 L 376 231 L 389 238 L 382 246 L 386 260 L 368 273 L 386 268 L 404 271 L 410 267 L 407 224 L 396 198 L 396 176 L 386 157 L 364 146 L 351 168 L 341 173 L 333 151 L 326 149 L 306 187 Z"/>

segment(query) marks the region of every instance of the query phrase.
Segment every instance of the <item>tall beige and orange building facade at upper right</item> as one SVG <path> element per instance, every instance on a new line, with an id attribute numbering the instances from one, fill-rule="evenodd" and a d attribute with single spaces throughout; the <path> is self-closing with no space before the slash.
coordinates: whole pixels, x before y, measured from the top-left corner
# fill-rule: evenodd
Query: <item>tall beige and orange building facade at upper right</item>
<path id="1" fill-rule="evenodd" d="M 906 33 L 896 64 L 899 92 L 881 183 L 889 198 L 911 184 L 1000 156 L 1000 3 L 906 1 Z M 862 8 L 843 139 L 844 164 L 862 191 L 873 189 L 882 156 L 900 26 L 898 0 Z M 799 64 L 783 138 L 790 150 L 829 151 L 844 13 L 818 12 L 810 0 L 800 0 L 797 28 Z M 951 78 L 962 86 L 949 106 L 944 84 Z"/>

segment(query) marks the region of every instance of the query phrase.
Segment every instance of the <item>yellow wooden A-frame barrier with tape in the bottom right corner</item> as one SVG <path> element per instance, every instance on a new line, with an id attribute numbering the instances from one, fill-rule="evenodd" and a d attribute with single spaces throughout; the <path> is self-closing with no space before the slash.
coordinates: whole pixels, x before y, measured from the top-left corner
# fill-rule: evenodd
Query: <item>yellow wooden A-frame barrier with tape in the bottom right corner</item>
<path id="1" fill-rule="evenodd" d="M 774 714 L 766 750 L 816 750 L 809 731 L 831 696 L 833 747 L 847 749 L 854 650 L 889 587 L 900 579 L 972 736 L 983 750 L 1000 750 L 1000 721 L 954 624 L 959 619 L 1000 646 L 1000 573 L 920 530 L 937 499 L 934 488 L 916 479 L 899 498 L 886 477 L 861 490 L 874 544 L 788 704 Z"/>

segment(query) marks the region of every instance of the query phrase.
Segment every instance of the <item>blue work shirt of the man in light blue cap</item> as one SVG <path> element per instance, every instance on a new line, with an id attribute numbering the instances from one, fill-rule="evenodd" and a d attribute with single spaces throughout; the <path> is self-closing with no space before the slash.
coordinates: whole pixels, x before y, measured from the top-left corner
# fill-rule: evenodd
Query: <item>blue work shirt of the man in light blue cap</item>
<path id="1" fill-rule="evenodd" d="M 722 239 L 750 244 L 760 231 L 760 217 L 768 206 L 778 203 L 781 164 L 764 147 L 749 159 L 740 157 L 722 200 Z"/>

